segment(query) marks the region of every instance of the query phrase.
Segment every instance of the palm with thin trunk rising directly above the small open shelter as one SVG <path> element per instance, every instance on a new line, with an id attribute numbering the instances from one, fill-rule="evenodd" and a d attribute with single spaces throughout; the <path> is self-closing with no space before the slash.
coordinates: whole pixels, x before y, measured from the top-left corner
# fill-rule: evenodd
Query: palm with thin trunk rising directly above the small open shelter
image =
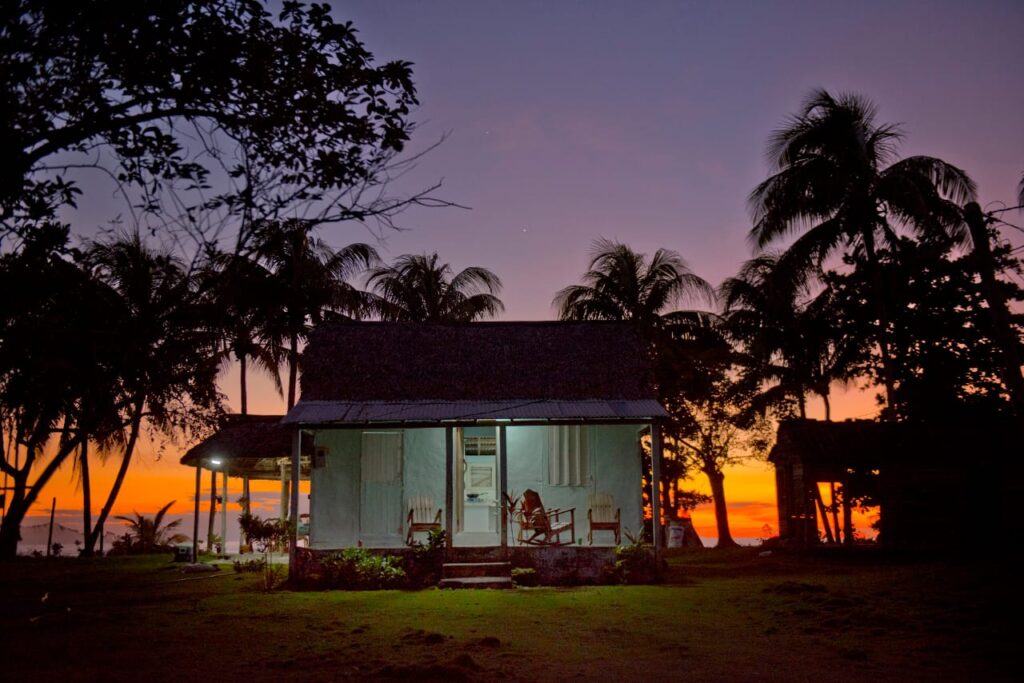
<path id="1" fill-rule="evenodd" d="M 202 273 L 203 289 L 216 310 L 221 329 L 221 359 L 239 361 L 241 413 L 249 413 L 249 365 L 271 380 L 283 393 L 279 369 L 283 360 L 280 291 L 261 263 L 240 254 L 217 253 Z"/>

